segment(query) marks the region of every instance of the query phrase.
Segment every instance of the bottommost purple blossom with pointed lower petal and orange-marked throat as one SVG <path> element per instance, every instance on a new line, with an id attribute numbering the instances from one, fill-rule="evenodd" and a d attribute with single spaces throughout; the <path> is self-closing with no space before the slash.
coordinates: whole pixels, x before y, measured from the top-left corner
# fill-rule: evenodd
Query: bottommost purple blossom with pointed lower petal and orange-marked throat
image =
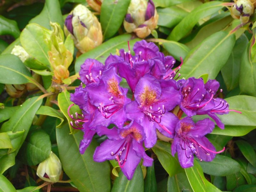
<path id="1" fill-rule="evenodd" d="M 143 148 L 143 127 L 137 122 L 131 122 L 121 129 L 99 127 L 97 133 L 105 134 L 109 139 L 96 148 L 93 160 L 102 162 L 115 159 L 128 180 L 133 177 L 141 159 L 144 166 L 152 166 L 153 159 L 145 154 Z"/>

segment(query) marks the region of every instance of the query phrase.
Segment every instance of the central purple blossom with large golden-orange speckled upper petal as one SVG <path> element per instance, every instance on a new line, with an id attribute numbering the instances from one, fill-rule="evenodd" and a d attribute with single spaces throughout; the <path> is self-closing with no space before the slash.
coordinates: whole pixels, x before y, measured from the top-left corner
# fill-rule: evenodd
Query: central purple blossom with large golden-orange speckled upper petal
<path id="1" fill-rule="evenodd" d="M 179 104 L 180 93 L 174 87 L 162 89 L 158 79 L 145 75 L 138 82 L 134 97 L 135 101 L 129 103 L 125 111 L 129 119 L 134 119 L 143 126 L 145 146 L 153 147 L 156 143 L 156 128 L 167 137 L 173 137 L 169 129 L 175 127 L 177 117 L 168 111 Z M 168 124 L 169 128 L 163 125 L 165 121 L 171 122 Z"/>

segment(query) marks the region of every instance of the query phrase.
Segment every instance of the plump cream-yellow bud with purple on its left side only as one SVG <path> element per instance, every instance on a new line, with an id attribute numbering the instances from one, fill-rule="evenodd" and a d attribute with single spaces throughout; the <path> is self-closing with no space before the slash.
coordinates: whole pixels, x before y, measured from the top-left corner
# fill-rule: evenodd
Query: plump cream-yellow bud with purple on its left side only
<path id="1" fill-rule="evenodd" d="M 72 35 L 76 48 L 81 53 L 90 51 L 102 44 L 102 28 L 95 15 L 83 5 L 75 7 L 67 16 L 65 35 Z"/>

